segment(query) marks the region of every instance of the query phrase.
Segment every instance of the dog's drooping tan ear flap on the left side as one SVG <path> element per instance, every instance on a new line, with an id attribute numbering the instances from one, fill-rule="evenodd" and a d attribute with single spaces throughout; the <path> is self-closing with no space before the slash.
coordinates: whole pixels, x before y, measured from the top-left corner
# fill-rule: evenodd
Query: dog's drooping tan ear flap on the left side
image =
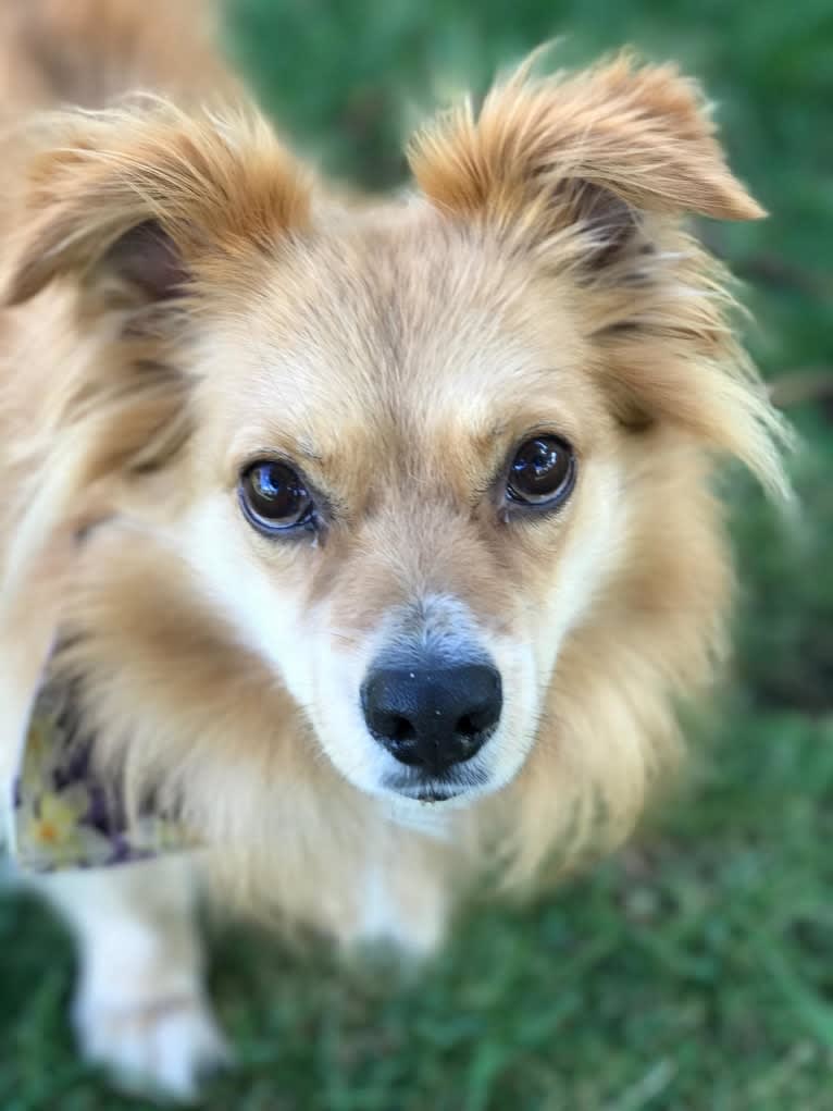
<path id="1" fill-rule="evenodd" d="M 201 267 L 269 252 L 305 223 L 309 181 L 268 124 L 169 106 L 44 122 L 11 206 L 6 304 L 59 278 L 163 301 Z"/>

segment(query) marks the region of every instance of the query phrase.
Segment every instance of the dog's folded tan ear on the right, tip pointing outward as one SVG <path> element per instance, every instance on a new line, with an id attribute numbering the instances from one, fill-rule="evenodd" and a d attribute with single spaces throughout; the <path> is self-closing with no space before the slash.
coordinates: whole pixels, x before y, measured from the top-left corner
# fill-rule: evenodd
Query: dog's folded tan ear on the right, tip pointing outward
<path id="1" fill-rule="evenodd" d="M 466 102 L 415 137 L 411 168 L 442 209 L 538 239 L 581 221 L 602 259 L 640 212 L 764 216 L 726 168 L 697 86 L 673 67 L 622 54 L 543 80 L 530 67 L 478 116 Z"/>

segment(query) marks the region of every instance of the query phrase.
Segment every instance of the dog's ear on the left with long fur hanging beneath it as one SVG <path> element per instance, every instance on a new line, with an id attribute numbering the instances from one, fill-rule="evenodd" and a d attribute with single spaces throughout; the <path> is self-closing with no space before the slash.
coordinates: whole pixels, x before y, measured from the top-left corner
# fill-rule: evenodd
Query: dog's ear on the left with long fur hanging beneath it
<path id="1" fill-rule="evenodd" d="M 6 174 L 21 192 L 0 198 L 3 226 L 14 229 L 0 260 L 0 306 L 62 286 L 76 294 L 68 308 L 83 336 L 99 317 L 117 326 L 98 330 L 104 358 L 79 344 L 50 378 L 32 474 L 50 490 L 50 474 L 74 459 L 80 491 L 158 471 L 190 427 L 192 380 L 177 359 L 192 319 L 183 299 L 220 282 L 250 289 L 261 258 L 308 220 L 310 182 L 259 118 L 185 116 L 147 100 L 58 113 L 26 147 L 20 172 Z"/>

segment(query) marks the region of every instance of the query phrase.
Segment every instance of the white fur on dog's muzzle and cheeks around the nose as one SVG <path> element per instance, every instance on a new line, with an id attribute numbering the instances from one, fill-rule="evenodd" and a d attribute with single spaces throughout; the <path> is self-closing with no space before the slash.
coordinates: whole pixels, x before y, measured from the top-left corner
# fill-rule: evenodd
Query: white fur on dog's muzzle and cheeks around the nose
<path id="1" fill-rule="evenodd" d="M 328 607 L 302 608 L 297 600 L 300 587 L 293 591 L 287 585 L 305 568 L 293 568 L 288 559 L 281 579 L 278 572 L 272 577 L 262 561 L 252 558 L 245 524 L 233 519 L 228 499 L 219 496 L 192 513 L 187 550 L 203 591 L 241 641 L 274 669 L 341 774 L 359 790 L 385 799 L 395 824 L 442 838 L 444 813 L 500 790 L 523 765 L 564 638 L 606 578 L 622 526 L 613 466 L 596 463 L 592 483 L 584 491 L 585 519 L 568 538 L 545 607 L 519 612 L 512 637 L 489 634 L 459 599 L 438 593 L 392 610 L 363 640 L 351 635 L 342 642 L 339 630 L 331 627 Z M 491 657 L 504 692 L 495 734 L 466 765 L 473 782 L 456 799 L 432 804 L 402 799 L 385 785 L 401 765 L 370 735 L 360 704 L 361 684 L 378 654 L 426 645 L 453 659 L 478 652 Z"/>

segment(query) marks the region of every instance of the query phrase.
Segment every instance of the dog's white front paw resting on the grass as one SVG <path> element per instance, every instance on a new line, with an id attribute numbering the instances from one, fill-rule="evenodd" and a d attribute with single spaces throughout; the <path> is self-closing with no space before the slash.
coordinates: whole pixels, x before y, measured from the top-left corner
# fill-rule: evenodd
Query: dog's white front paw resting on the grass
<path id="1" fill-rule="evenodd" d="M 201 1080 L 231 1060 L 208 1004 L 197 995 L 121 1007 L 81 998 L 74 1021 L 87 1060 L 133 1093 L 188 1102 Z"/>

